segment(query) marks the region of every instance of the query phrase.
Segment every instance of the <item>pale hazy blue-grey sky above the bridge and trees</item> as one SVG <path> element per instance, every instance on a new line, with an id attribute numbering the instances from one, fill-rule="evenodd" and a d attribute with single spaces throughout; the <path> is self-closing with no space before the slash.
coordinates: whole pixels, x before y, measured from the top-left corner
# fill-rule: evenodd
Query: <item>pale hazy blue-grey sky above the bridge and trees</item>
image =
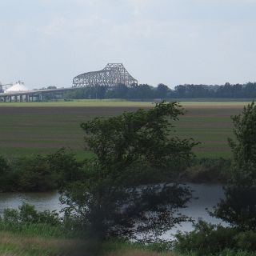
<path id="1" fill-rule="evenodd" d="M 0 81 L 70 86 L 122 62 L 140 83 L 256 81 L 256 0 L 0 0 Z"/>

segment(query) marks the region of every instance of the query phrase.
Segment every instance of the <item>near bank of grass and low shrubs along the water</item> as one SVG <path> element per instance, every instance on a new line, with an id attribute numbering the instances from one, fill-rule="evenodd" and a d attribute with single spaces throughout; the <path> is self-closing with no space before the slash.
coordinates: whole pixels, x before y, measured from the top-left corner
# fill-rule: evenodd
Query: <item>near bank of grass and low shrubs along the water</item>
<path id="1" fill-rule="evenodd" d="M 0 219 L 0 255 L 253 256 L 255 251 L 254 231 L 239 233 L 230 227 L 209 226 L 202 222 L 194 232 L 178 234 L 178 243 L 173 243 L 172 250 L 170 243 L 96 242 L 85 231 L 58 222 L 53 212 L 33 209 L 33 206 L 23 205 L 19 210 L 5 210 Z M 226 246 L 236 251 L 227 250 Z M 251 252 L 241 251 L 247 249 Z"/>

